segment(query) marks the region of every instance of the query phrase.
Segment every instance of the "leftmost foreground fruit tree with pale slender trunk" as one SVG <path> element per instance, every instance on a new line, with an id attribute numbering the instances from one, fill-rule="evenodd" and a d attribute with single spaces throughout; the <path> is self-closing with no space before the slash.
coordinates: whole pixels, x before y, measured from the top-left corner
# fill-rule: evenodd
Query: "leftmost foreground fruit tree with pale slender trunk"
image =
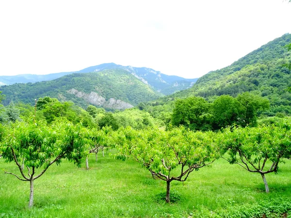
<path id="1" fill-rule="evenodd" d="M 53 163 L 68 159 L 80 166 L 86 156 L 86 131 L 81 125 L 58 121 L 52 125 L 16 122 L 7 127 L 0 142 L 6 162 L 15 162 L 20 173 L 8 172 L 21 181 L 30 182 L 28 207 L 33 205 L 33 182 Z"/>

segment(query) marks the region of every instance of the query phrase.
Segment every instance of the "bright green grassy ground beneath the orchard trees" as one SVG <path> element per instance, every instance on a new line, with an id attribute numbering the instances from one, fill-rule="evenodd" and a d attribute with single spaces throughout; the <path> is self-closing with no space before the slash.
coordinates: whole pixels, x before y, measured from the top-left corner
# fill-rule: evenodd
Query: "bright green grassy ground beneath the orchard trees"
<path id="1" fill-rule="evenodd" d="M 99 155 L 99 154 L 98 154 Z M 224 159 L 194 171 L 186 182 L 172 182 L 180 201 L 157 199 L 166 184 L 153 180 L 146 169 L 108 154 L 89 158 L 90 170 L 67 161 L 53 165 L 34 182 L 34 207 L 27 209 L 29 183 L 0 173 L 0 218 L 121 218 L 121 217 L 262 217 L 291 210 L 291 161 L 277 175 L 267 174 L 270 193 L 264 192 L 259 174 Z M 0 169 L 17 172 L 16 165 L 0 159 Z M 270 216 L 271 216 L 270 215 Z"/>

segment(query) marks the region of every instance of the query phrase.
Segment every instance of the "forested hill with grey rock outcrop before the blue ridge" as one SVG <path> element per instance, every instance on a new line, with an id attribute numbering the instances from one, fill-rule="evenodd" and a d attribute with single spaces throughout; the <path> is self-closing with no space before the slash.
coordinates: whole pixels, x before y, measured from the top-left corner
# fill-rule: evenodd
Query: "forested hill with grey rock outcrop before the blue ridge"
<path id="1" fill-rule="evenodd" d="M 162 96 L 121 69 L 70 74 L 44 82 L 17 83 L 1 86 L 0 91 L 6 95 L 4 105 L 11 101 L 33 104 L 35 98 L 50 96 L 64 101 L 71 100 L 83 108 L 93 104 L 107 109 L 131 108 L 139 102 Z"/>

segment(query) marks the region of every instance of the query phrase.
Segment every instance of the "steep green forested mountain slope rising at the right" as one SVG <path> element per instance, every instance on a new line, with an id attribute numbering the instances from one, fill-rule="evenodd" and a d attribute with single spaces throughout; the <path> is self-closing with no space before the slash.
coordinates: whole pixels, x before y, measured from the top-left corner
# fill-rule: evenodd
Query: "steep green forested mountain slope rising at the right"
<path id="1" fill-rule="evenodd" d="M 271 109 L 265 112 L 273 116 L 280 112 L 291 115 L 291 70 L 284 64 L 291 63 L 291 43 L 287 33 L 250 52 L 238 61 L 220 70 L 211 71 L 199 78 L 192 88 L 183 90 L 153 102 L 153 105 L 173 105 L 171 101 L 188 96 L 202 96 L 213 101 L 216 96 L 229 94 L 233 97 L 251 92 L 270 100 Z"/>

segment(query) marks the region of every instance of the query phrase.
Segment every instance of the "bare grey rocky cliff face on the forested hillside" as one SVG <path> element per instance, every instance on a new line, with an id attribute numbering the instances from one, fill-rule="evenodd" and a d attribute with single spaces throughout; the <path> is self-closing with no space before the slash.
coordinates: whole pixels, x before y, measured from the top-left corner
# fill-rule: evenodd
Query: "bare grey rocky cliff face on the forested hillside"
<path id="1" fill-rule="evenodd" d="M 90 94 L 88 94 L 88 93 L 79 92 L 77 89 L 70 89 L 67 92 L 74 94 L 77 97 L 83 98 L 89 104 L 96 105 L 103 108 L 119 109 L 119 110 L 133 108 L 133 106 L 130 105 L 129 103 L 126 103 L 118 99 L 110 98 L 108 101 L 106 101 L 104 97 L 102 97 L 101 95 L 95 92 L 91 92 Z"/>

